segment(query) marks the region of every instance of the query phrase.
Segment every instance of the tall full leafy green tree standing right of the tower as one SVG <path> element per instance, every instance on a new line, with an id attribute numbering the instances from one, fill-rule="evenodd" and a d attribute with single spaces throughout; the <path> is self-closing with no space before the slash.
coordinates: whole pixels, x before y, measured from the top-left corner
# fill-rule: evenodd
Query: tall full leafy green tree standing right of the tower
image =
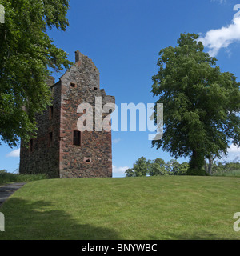
<path id="1" fill-rule="evenodd" d="M 181 34 L 178 46 L 160 50 L 152 93 L 163 103 L 164 133 L 153 141 L 175 158 L 190 157 L 188 174 L 206 174 L 204 158 L 240 146 L 239 83 L 203 52 L 198 34 Z M 154 122 L 157 124 L 156 106 Z"/>

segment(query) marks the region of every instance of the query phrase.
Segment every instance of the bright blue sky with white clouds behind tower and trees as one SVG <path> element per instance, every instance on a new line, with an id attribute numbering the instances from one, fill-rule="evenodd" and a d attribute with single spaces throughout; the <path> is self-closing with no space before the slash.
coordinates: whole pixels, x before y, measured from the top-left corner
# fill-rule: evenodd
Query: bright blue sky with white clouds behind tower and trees
<path id="1" fill-rule="evenodd" d="M 92 58 L 100 71 L 100 87 L 114 95 L 116 104 L 153 103 L 151 77 L 158 72 L 158 52 L 176 46 L 181 33 L 202 37 L 206 51 L 218 59 L 222 71 L 230 71 L 240 82 L 240 22 L 234 6 L 240 1 L 211 0 L 71 0 L 66 32 L 51 30 L 54 43 L 69 53 Z M 239 9 L 240 10 L 240 9 Z M 60 74 L 54 74 L 58 81 Z M 138 127 L 138 126 L 137 126 Z M 113 132 L 114 177 L 145 156 L 171 159 L 170 154 L 151 147 L 149 132 Z M 0 170 L 18 168 L 19 150 L 0 146 Z M 231 146 L 228 159 L 240 151 Z M 179 162 L 188 159 L 178 159 Z"/>

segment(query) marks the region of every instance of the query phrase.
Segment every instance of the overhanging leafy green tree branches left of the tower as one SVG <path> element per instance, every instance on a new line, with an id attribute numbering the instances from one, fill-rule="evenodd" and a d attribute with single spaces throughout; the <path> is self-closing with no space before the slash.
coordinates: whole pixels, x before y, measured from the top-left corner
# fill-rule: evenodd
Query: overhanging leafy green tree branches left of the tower
<path id="1" fill-rule="evenodd" d="M 47 29 L 66 30 L 69 0 L 0 0 L 0 137 L 9 146 L 28 142 L 37 130 L 35 114 L 50 105 L 50 69 L 70 67 Z"/>

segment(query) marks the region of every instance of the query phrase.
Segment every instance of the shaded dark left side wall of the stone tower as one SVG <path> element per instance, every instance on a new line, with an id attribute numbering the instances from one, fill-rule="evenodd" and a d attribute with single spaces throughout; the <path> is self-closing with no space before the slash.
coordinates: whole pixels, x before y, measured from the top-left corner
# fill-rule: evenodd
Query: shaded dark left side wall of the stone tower
<path id="1" fill-rule="evenodd" d="M 21 146 L 20 174 L 47 174 L 50 178 L 59 178 L 59 127 L 61 83 L 50 86 L 54 95 L 53 113 L 50 107 L 38 115 L 38 136 L 33 138 L 32 150 Z M 53 116 L 51 116 L 53 114 Z M 50 143 L 50 132 L 52 142 Z"/>

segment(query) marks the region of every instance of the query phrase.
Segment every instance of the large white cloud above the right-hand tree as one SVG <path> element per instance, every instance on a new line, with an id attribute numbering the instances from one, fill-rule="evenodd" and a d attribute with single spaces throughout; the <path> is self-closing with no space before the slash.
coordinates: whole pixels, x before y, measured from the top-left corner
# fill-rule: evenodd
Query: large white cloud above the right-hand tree
<path id="1" fill-rule="evenodd" d="M 210 56 L 216 56 L 222 48 L 227 48 L 233 42 L 240 42 L 240 16 L 239 12 L 229 26 L 222 26 L 218 30 L 209 30 L 204 37 L 198 38 L 203 45 L 210 49 Z"/>

